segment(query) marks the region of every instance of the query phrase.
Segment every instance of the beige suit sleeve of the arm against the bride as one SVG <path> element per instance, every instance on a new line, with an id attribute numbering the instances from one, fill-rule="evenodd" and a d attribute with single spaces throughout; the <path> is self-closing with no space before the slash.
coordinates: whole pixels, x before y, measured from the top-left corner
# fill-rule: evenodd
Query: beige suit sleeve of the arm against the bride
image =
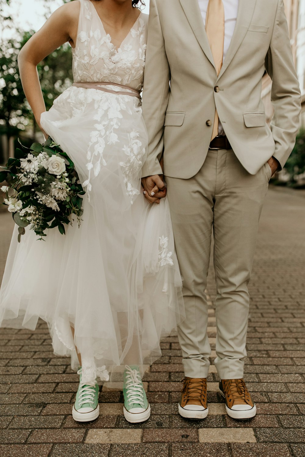
<path id="1" fill-rule="evenodd" d="M 148 38 L 144 68 L 143 117 L 148 132 L 147 158 L 142 176 L 162 174 L 163 133 L 170 94 L 170 69 L 166 57 L 156 0 L 150 0 Z"/>

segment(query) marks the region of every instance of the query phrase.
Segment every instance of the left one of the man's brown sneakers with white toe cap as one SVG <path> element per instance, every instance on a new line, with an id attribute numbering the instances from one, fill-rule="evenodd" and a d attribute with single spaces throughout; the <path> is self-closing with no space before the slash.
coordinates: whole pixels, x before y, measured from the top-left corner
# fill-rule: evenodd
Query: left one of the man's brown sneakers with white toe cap
<path id="1" fill-rule="evenodd" d="M 206 378 L 185 377 L 182 383 L 179 414 L 186 419 L 205 419 L 209 413 Z"/>

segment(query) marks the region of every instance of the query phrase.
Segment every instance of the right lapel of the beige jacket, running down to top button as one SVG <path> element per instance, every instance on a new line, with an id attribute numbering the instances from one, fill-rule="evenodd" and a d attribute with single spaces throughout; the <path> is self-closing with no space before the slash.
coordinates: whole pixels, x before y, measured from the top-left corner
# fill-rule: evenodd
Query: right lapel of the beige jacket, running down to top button
<path id="1" fill-rule="evenodd" d="M 230 47 L 225 56 L 224 63 L 221 67 L 219 78 L 228 68 L 230 62 L 232 61 L 238 48 L 241 46 L 243 39 L 246 36 L 246 32 L 251 24 L 256 1 L 257 0 L 239 0 L 235 30 L 230 43 Z"/>

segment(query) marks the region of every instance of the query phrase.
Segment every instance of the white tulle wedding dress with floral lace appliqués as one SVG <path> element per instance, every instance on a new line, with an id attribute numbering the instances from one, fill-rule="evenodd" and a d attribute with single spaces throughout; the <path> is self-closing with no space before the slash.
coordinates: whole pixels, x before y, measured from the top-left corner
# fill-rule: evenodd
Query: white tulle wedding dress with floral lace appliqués
<path id="1" fill-rule="evenodd" d="M 114 48 L 94 5 L 80 0 L 76 83 L 114 83 L 106 92 L 72 86 L 43 113 L 43 129 L 75 163 L 86 195 L 83 221 L 44 241 L 15 228 L 0 290 L 0 325 L 48 323 L 55 354 L 82 356 L 83 381 L 120 379 L 125 364 L 150 365 L 160 339 L 183 318 L 182 281 L 166 199 L 141 192 L 147 132 L 139 98 L 148 16 L 140 13 Z M 153 77 L 153 75 L 151 75 Z M 75 328 L 73 340 L 70 324 Z"/>

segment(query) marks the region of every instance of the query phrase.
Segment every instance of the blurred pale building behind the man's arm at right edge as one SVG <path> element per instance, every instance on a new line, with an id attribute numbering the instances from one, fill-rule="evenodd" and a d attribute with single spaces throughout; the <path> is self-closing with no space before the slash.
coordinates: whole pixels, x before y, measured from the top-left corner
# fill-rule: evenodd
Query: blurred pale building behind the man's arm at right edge
<path id="1" fill-rule="evenodd" d="M 284 4 L 294 64 L 302 92 L 301 126 L 305 128 L 305 0 L 284 0 Z M 268 123 L 273 116 L 270 92 L 271 80 L 268 74 L 265 74 L 262 80 L 262 100 Z"/>

